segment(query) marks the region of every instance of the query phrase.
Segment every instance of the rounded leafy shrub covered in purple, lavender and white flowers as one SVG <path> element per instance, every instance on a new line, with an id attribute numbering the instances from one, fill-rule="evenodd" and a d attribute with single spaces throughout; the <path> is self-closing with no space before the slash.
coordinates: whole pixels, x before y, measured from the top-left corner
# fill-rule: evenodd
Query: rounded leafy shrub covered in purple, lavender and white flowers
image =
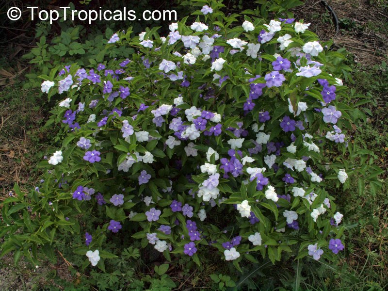
<path id="1" fill-rule="evenodd" d="M 334 260 L 343 250 L 328 189 L 349 187 L 352 170 L 325 157 L 346 152 L 357 118 L 336 75 L 343 57 L 309 24 L 239 23 L 222 7 L 206 2 L 194 23 L 172 23 L 165 36 L 117 32 L 106 49 L 137 54 L 42 77 L 43 92 L 63 96 L 50 121 L 63 140 L 42 162 L 37 218 L 23 212 L 27 258 L 37 262 L 37 245 L 52 257 L 59 233 L 81 236 L 72 246 L 80 265 L 101 270 L 123 251 L 120 236 L 198 265 L 215 251 L 237 268 L 258 254 L 275 263 L 284 252 Z M 11 198 L 9 224 L 28 205 L 11 212 Z"/>

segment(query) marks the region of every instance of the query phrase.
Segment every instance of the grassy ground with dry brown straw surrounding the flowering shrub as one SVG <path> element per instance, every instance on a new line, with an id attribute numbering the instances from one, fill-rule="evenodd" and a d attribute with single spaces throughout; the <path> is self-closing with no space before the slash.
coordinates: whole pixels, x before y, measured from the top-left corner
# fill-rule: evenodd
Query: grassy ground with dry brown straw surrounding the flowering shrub
<path id="1" fill-rule="evenodd" d="M 354 142 L 373 150 L 375 163 L 387 169 L 388 3 L 332 0 L 327 4 L 338 16 L 339 31 L 323 1 L 306 0 L 293 12 L 296 19 L 311 22 L 310 29 L 321 39 L 332 39 L 335 48 L 345 47 L 351 53 L 348 65 L 354 68 L 353 83 L 346 85 L 370 97 L 368 107 L 373 113 L 356 129 Z M 35 165 L 50 146 L 40 129 L 48 116 L 46 100 L 38 98 L 38 90 L 21 89 L 18 79 L 18 74 L 30 69 L 21 56 L 33 44 L 19 37 L 17 31 L 8 31 L 15 37 L 1 44 L 5 53 L 0 58 L 0 199 L 7 197 L 15 182 L 22 189 L 34 186 L 40 174 Z M 381 178 L 386 179 L 387 172 Z M 384 288 L 388 286 L 388 187 L 376 195 L 366 191 L 364 197 L 358 197 L 355 193 L 349 191 L 338 202 L 350 225 L 348 256 L 341 265 L 349 268 L 349 274 L 363 277 L 365 282 L 378 282 Z M 60 255 L 55 266 L 48 263 L 38 270 L 24 262 L 15 267 L 12 257 L 6 256 L 0 262 L 0 290 L 31 290 L 42 286 L 54 273 L 69 280 L 67 266 Z"/>

